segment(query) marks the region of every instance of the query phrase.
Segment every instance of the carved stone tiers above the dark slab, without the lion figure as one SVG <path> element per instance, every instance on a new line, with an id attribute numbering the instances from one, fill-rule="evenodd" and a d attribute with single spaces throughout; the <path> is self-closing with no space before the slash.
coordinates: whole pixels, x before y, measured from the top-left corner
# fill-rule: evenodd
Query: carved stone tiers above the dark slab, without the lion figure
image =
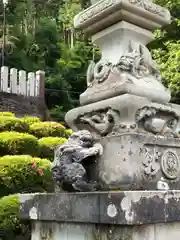
<path id="1" fill-rule="evenodd" d="M 75 17 L 74 25 L 102 52 L 87 71 L 81 107 L 66 114 L 103 147 L 87 166 L 89 181 L 101 190 L 155 190 L 180 184 L 180 110 L 169 104 L 158 66 L 146 45 L 152 31 L 170 23 L 170 14 L 152 1 L 97 1 Z"/>

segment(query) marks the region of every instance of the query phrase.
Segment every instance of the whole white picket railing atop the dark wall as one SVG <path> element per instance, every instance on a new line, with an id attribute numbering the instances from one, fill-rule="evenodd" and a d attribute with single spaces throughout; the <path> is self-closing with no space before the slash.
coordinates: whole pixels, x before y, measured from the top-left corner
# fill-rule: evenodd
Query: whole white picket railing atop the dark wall
<path id="1" fill-rule="evenodd" d="M 1 67 L 0 91 L 17 95 L 39 97 L 44 88 L 43 71 L 29 72 L 18 71 L 15 68 Z"/>

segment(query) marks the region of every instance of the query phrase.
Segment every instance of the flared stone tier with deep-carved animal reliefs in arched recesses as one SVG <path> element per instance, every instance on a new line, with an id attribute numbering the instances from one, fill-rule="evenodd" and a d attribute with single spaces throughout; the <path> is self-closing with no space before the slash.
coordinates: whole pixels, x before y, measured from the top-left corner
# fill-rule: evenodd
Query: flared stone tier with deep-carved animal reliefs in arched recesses
<path id="1" fill-rule="evenodd" d="M 73 131 L 88 129 L 97 138 L 127 132 L 173 137 L 180 131 L 179 117 L 177 105 L 124 94 L 72 109 L 65 120 Z"/>

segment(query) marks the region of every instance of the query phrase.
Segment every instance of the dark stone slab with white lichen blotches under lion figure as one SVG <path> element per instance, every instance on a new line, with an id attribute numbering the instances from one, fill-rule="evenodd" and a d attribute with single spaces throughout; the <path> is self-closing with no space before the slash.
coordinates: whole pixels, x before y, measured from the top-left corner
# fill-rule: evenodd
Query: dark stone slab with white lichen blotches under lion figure
<path id="1" fill-rule="evenodd" d="M 20 195 L 20 201 L 21 218 L 35 221 L 116 225 L 180 221 L 180 191 L 29 194 Z"/>

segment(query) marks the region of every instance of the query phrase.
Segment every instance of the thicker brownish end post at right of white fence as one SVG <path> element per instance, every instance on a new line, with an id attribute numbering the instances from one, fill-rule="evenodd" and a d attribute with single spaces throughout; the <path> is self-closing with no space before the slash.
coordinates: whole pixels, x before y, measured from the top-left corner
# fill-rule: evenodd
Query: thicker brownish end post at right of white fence
<path id="1" fill-rule="evenodd" d="M 45 97 L 45 72 L 36 72 L 36 96 L 44 99 Z"/>

